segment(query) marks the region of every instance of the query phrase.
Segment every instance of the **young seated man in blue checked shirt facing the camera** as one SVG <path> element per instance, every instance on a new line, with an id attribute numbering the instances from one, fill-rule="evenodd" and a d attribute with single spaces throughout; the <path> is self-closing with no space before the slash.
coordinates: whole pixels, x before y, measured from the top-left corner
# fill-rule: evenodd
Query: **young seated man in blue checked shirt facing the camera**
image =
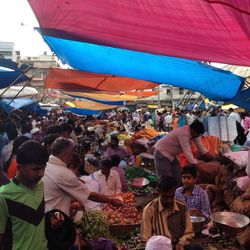
<path id="1" fill-rule="evenodd" d="M 182 170 L 182 184 L 175 192 L 175 198 L 184 202 L 191 215 L 203 216 L 209 219 L 211 214 L 208 195 L 205 190 L 196 185 L 197 170 L 195 166 L 187 166 Z"/>

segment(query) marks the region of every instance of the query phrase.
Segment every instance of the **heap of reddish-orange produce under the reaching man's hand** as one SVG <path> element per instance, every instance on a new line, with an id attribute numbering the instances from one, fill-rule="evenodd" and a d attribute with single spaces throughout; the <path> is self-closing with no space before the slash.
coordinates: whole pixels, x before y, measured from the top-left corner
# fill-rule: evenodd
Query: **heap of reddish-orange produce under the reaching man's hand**
<path id="1" fill-rule="evenodd" d="M 141 223 L 141 213 L 135 207 L 133 193 L 116 194 L 115 198 L 122 199 L 124 205 L 117 208 L 111 204 L 106 204 L 103 208 L 104 214 L 110 224 L 139 224 Z"/>

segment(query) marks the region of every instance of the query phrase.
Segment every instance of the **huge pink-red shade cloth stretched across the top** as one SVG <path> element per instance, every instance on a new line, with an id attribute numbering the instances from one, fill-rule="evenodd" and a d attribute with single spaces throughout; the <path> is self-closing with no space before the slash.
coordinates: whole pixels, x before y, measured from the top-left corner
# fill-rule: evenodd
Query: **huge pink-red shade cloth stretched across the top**
<path id="1" fill-rule="evenodd" d="M 248 0 L 28 1 L 44 34 L 152 54 L 250 65 Z"/>

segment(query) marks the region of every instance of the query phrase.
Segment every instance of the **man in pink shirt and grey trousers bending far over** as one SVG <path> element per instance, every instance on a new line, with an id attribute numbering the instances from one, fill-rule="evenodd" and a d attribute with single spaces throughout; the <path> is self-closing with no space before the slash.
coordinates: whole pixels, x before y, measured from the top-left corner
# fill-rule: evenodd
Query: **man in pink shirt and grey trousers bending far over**
<path id="1" fill-rule="evenodd" d="M 190 164 L 198 164 L 194 158 L 191 143 L 196 143 L 201 155 L 213 159 L 209 151 L 203 146 L 200 136 L 205 132 L 203 124 L 195 120 L 191 125 L 174 129 L 167 136 L 160 139 L 154 149 L 155 169 L 158 178 L 163 175 L 173 176 L 178 186 L 181 184 L 181 168 L 177 156 L 184 152 Z"/>

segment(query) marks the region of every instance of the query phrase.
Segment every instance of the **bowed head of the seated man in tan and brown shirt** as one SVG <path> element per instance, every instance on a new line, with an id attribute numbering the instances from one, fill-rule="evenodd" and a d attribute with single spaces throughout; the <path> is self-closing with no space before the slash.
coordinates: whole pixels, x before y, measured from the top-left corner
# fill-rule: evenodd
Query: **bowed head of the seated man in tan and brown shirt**
<path id="1" fill-rule="evenodd" d="M 160 178 L 157 189 L 164 208 L 173 207 L 176 188 L 177 181 L 172 176 L 162 176 Z"/>

